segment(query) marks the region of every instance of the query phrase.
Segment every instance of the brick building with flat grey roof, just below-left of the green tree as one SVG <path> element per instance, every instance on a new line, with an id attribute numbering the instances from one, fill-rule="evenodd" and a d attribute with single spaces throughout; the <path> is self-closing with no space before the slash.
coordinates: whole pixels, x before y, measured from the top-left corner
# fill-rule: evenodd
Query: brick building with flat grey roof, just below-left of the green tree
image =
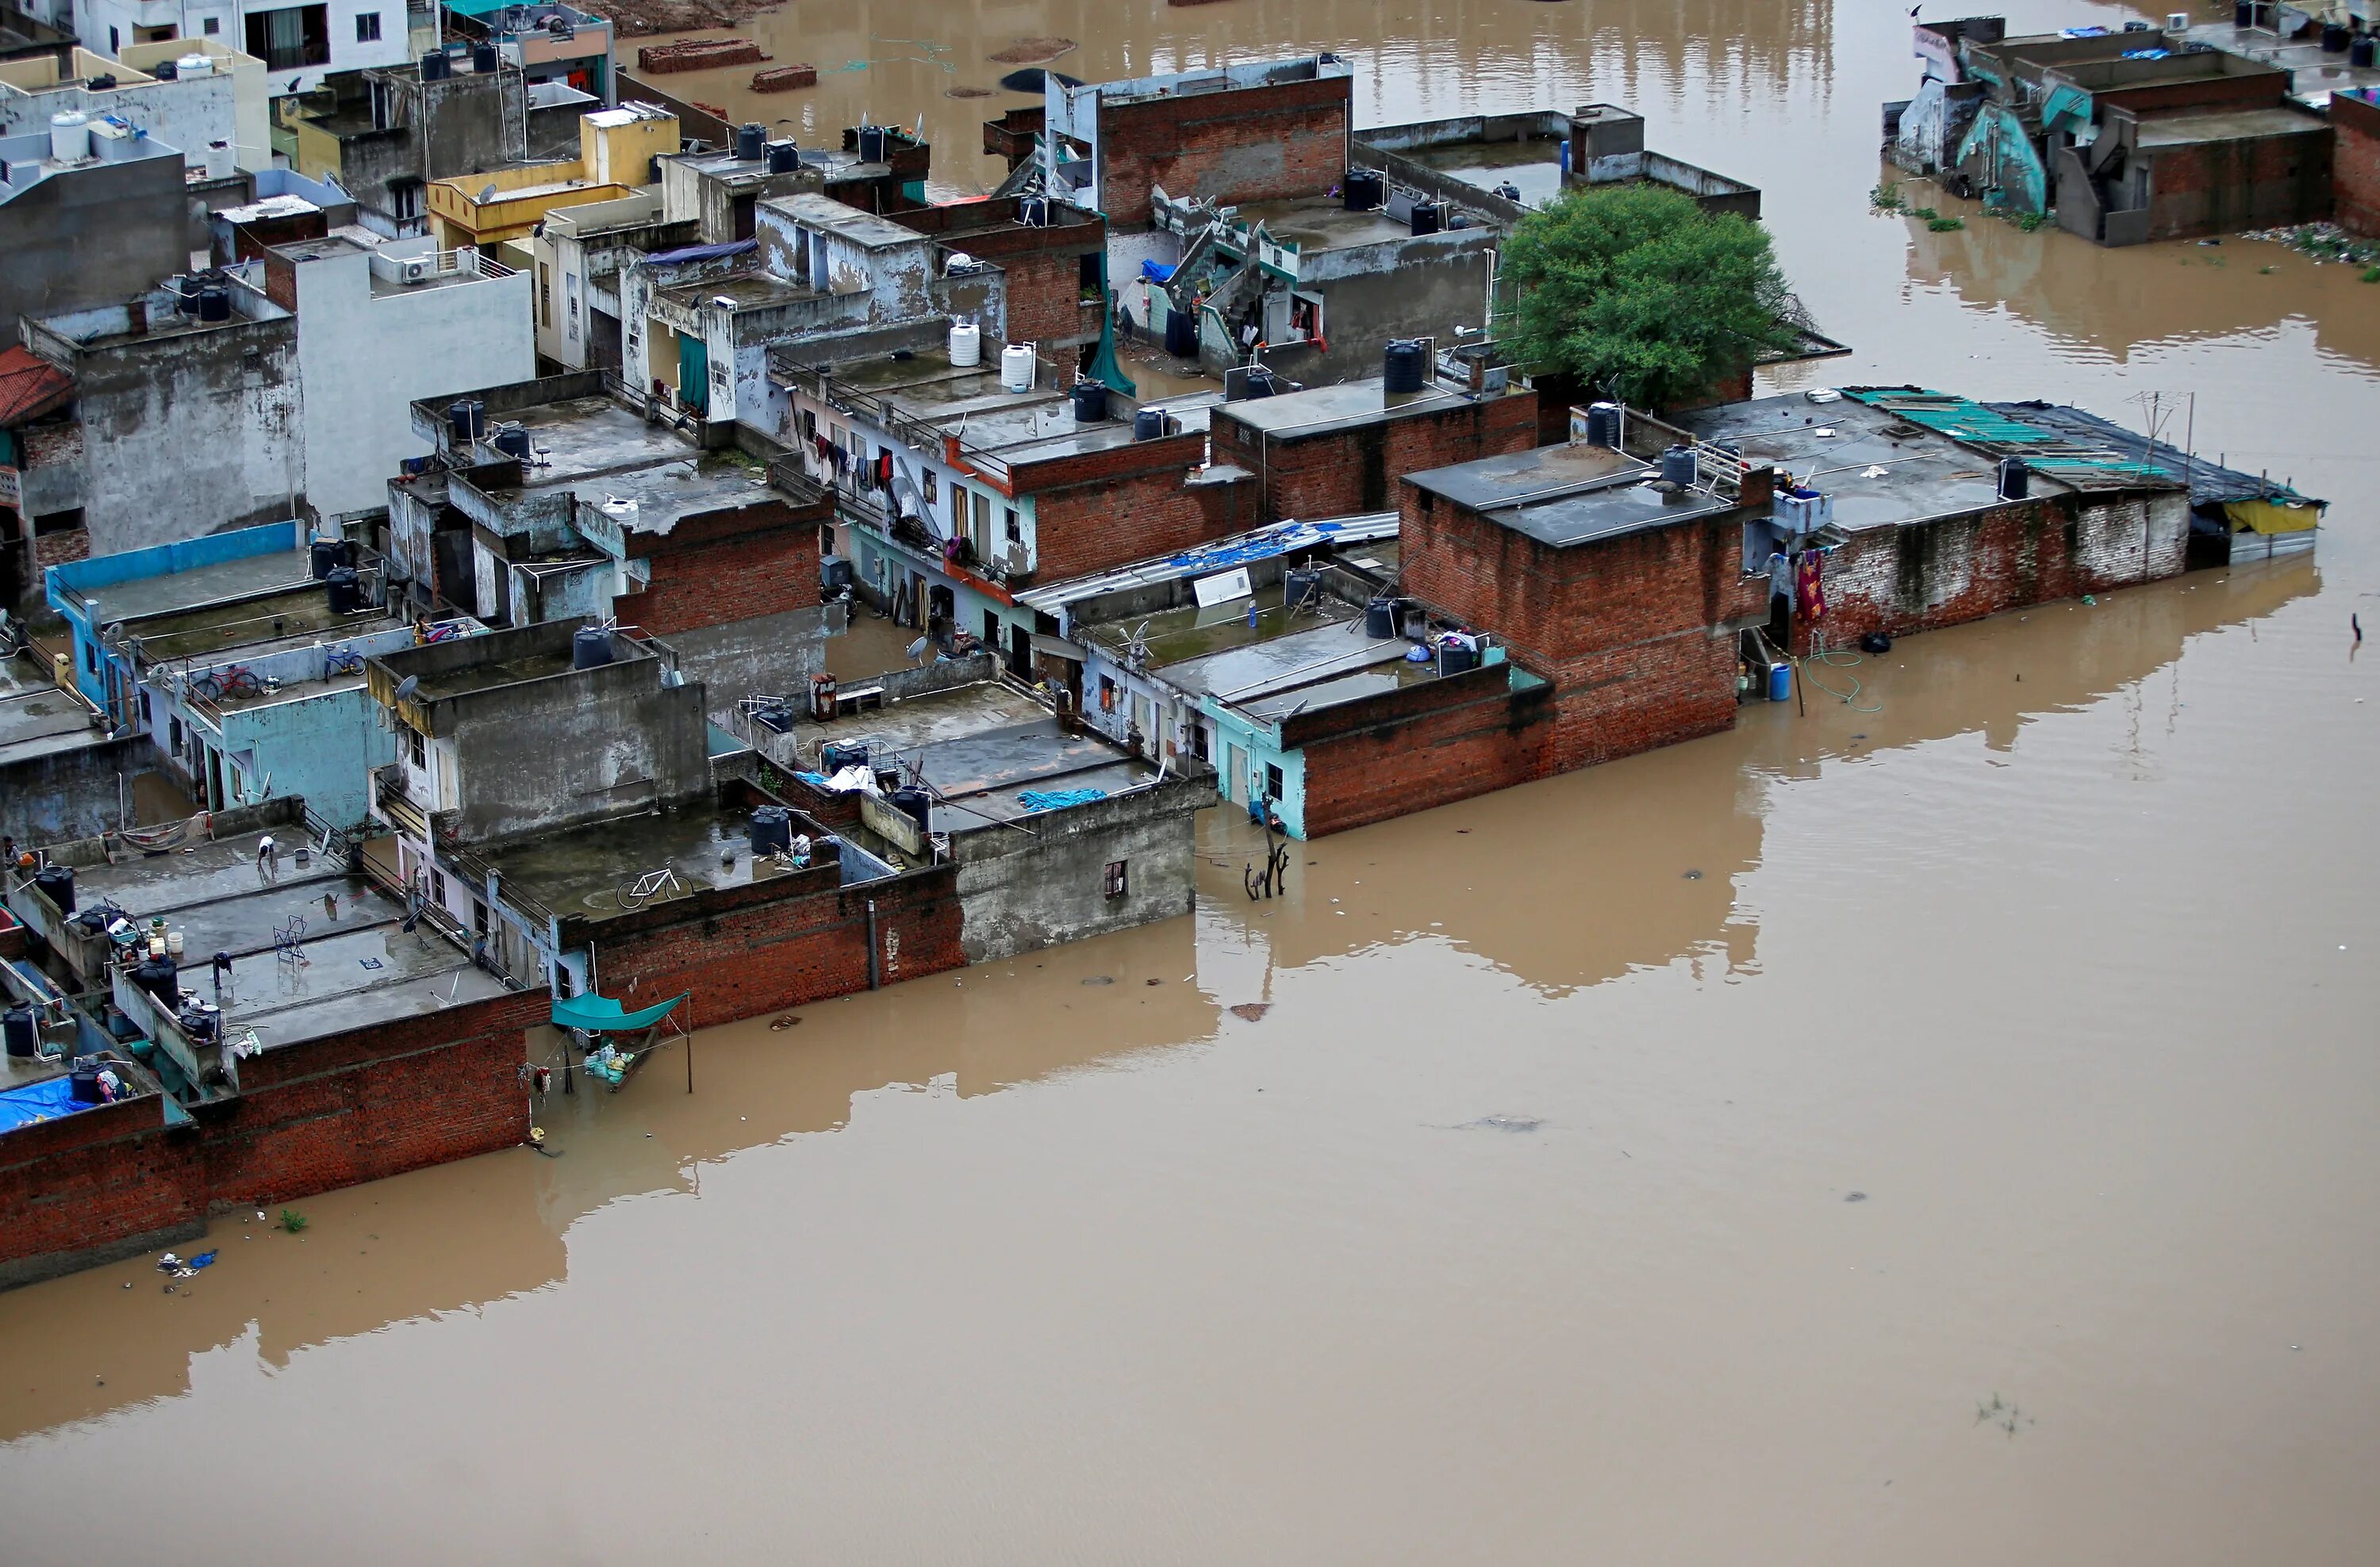
<path id="1" fill-rule="evenodd" d="M 1471 392 L 1433 378 L 1421 392 L 1380 376 L 1226 402 L 1209 419 L 1214 461 L 1254 476 L 1257 521 L 1385 511 L 1407 473 L 1537 445 L 1537 395 Z"/>

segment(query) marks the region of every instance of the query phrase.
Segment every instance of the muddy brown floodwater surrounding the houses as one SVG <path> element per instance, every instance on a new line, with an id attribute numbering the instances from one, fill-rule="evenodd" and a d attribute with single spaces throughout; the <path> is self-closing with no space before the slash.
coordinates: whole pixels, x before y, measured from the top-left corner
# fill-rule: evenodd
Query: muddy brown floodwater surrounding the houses
<path id="1" fill-rule="evenodd" d="M 712 1030 L 693 1096 L 219 1220 L 174 1296 L 0 1296 L 0 1557 L 2373 1560 L 2380 288 L 1871 216 L 1902 12 L 762 21 L 919 55 L 781 112 L 923 112 L 945 171 L 1002 100 L 942 78 L 1026 33 L 1345 48 L 1366 121 L 1633 102 L 1856 347 L 1778 385 L 2194 395 L 2320 559 L 1916 637 L 1271 904 L 1209 813 L 1192 918 Z"/>

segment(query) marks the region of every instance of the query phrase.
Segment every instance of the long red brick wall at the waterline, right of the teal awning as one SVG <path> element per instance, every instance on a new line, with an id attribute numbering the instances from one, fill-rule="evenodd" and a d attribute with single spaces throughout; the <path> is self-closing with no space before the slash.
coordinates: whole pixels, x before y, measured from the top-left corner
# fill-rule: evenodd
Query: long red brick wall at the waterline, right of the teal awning
<path id="1" fill-rule="evenodd" d="M 869 887 L 835 887 L 826 873 L 826 885 L 809 894 L 747 896 L 666 925 L 621 930 L 626 923 L 614 920 L 597 927 L 595 961 L 607 994 L 662 1001 L 693 992 L 695 1027 L 762 1018 L 869 987 L 871 899 L 885 984 L 966 963 L 957 870 L 947 866 Z"/>

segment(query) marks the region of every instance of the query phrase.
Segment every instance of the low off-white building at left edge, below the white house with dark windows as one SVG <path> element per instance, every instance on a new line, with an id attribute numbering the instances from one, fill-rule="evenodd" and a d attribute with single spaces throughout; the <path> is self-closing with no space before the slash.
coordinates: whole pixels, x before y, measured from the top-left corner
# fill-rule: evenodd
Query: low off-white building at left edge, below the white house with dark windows
<path id="1" fill-rule="evenodd" d="M 114 117 L 181 147 L 190 169 L 209 152 L 240 169 L 271 169 L 264 62 L 214 40 L 143 43 L 107 59 L 74 50 L 67 67 L 38 55 L 0 62 L 0 136 L 48 133 L 52 114 Z"/>

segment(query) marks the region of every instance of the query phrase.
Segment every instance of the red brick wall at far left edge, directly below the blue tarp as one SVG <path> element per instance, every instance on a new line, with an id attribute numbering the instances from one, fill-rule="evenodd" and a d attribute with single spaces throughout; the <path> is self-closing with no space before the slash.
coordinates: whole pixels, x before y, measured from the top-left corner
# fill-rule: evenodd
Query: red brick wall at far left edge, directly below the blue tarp
<path id="1" fill-rule="evenodd" d="M 207 1222 L 198 1127 L 129 1099 L 0 1137 L 0 1286 L 164 1246 Z"/>

